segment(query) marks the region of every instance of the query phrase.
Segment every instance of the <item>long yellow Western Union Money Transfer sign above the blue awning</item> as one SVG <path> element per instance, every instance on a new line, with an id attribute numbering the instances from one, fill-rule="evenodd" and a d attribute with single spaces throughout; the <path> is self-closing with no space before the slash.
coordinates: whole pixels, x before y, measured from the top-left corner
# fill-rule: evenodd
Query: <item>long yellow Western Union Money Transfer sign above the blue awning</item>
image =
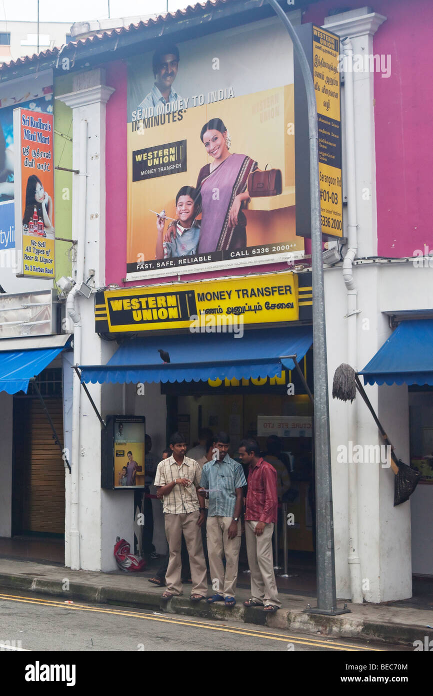
<path id="1" fill-rule="evenodd" d="M 299 319 L 297 276 L 293 273 L 179 283 L 104 292 L 95 308 L 96 331 L 110 333 L 189 329 L 213 324 L 295 322 Z"/>

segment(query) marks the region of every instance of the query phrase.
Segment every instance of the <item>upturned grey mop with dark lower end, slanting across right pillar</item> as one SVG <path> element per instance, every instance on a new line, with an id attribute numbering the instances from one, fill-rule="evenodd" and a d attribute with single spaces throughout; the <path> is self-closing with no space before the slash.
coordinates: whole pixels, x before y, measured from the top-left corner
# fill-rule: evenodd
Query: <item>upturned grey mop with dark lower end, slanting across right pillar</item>
<path id="1" fill-rule="evenodd" d="M 353 367 L 343 363 L 339 365 L 334 374 L 334 381 L 332 383 L 332 397 L 333 399 L 339 399 L 341 401 L 354 401 L 357 395 L 357 390 L 361 394 L 364 402 L 371 415 L 375 419 L 375 423 L 379 428 L 379 432 L 384 438 L 387 445 L 391 447 L 391 468 L 395 473 L 394 480 L 394 507 L 395 505 L 400 505 L 409 500 L 409 497 L 416 489 L 416 485 L 420 480 L 420 473 L 415 471 L 410 466 L 407 466 L 404 461 L 397 459 L 394 454 L 393 444 L 391 443 L 389 437 L 386 435 L 382 424 L 379 422 L 373 406 L 368 400 L 368 396 L 361 384 L 361 381 L 354 371 Z"/>

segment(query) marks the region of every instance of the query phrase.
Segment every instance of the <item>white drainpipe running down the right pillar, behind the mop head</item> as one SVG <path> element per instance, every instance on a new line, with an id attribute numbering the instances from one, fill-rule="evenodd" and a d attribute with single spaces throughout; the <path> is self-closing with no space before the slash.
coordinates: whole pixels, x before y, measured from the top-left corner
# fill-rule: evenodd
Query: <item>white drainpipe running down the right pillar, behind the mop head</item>
<path id="1" fill-rule="evenodd" d="M 348 252 L 343 260 L 343 280 L 348 296 L 348 363 L 357 371 L 357 287 L 353 278 L 353 262 L 357 256 L 357 187 L 355 172 L 354 147 L 354 104 L 353 104 L 353 47 L 349 38 L 341 41 L 344 50 L 344 106 L 346 129 L 346 171 L 348 181 Z M 348 439 L 356 444 L 358 441 L 357 407 L 355 403 L 348 407 Z M 358 529 L 358 469 L 357 464 L 348 463 L 348 499 L 349 499 L 349 551 L 348 564 L 350 572 L 350 596 L 352 603 L 362 604 L 361 561 L 359 560 Z"/>

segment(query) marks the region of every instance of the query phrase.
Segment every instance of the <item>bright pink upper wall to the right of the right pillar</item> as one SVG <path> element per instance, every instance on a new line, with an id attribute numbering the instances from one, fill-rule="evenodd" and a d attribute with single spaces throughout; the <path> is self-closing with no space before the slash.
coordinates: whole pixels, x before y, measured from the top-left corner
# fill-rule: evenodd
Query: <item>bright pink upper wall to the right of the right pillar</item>
<path id="1" fill-rule="evenodd" d="M 368 5 L 345 0 L 341 6 Z M 387 17 L 373 38 L 375 54 L 391 55 L 391 77 L 375 74 L 375 150 L 379 256 L 411 256 L 432 247 L 432 0 L 375 0 Z M 302 22 L 323 24 L 335 0 L 309 6 Z"/>

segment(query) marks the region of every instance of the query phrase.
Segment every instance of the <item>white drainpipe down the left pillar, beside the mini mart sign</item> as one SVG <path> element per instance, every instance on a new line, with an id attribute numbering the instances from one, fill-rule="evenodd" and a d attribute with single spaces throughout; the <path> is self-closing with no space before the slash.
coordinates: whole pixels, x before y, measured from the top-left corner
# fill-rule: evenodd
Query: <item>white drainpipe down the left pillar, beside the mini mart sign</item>
<path id="1" fill-rule="evenodd" d="M 81 315 L 76 307 L 76 296 L 84 279 L 85 202 L 87 194 L 87 121 L 80 124 L 79 205 L 76 239 L 76 284 L 67 296 L 67 314 L 74 322 L 74 365 L 81 365 Z M 80 395 L 81 385 L 74 371 L 72 392 L 72 452 L 71 452 L 71 511 L 70 559 L 71 570 L 80 569 L 79 531 L 79 461 L 80 461 Z"/>

